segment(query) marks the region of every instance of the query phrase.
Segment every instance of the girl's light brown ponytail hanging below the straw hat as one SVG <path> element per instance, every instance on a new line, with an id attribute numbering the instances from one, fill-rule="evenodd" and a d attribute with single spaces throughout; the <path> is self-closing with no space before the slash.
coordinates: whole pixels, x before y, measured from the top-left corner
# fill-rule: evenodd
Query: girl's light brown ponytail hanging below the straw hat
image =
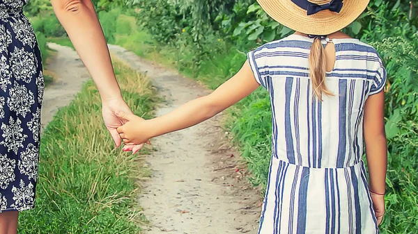
<path id="1" fill-rule="evenodd" d="M 332 94 L 332 92 L 328 90 L 327 85 L 325 85 L 325 74 L 327 72 L 325 49 L 322 42 L 320 42 L 319 37 L 316 37 L 312 43 L 311 53 L 309 54 L 309 66 L 312 89 L 314 90 L 315 96 L 320 101 L 323 101 L 323 93 L 328 96 L 333 96 L 334 94 Z"/>

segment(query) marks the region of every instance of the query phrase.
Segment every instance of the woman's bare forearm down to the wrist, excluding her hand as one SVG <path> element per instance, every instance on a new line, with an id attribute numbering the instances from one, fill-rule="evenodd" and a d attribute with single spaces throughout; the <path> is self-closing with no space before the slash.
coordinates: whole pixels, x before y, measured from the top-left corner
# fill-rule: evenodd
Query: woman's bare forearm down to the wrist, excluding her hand
<path id="1" fill-rule="evenodd" d="M 91 0 L 51 0 L 51 3 L 102 100 L 121 99 L 106 40 Z"/>

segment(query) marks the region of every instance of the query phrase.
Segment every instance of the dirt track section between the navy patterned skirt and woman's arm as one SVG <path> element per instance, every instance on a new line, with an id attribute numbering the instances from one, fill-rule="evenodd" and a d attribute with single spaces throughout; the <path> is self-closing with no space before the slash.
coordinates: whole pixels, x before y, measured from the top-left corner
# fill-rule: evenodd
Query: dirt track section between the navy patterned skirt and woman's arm
<path id="1" fill-rule="evenodd" d="M 70 47 L 48 43 L 56 52 L 46 69 L 54 75 L 54 82 L 45 88 L 42 106 L 42 129 L 53 119 L 56 111 L 67 106 L 85 81 L 90 78 L 82 60 Z"/>

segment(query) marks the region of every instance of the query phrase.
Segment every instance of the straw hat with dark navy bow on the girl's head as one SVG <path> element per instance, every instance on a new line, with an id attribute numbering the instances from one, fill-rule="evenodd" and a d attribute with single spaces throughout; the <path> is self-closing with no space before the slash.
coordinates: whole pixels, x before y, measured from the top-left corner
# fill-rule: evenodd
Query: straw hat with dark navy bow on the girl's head
<path id="1" fill-rule="evenodd" d="M 362 14 L 369 0 L 257 0 L 274 20 L 308 35 L 329 35 Z"/>

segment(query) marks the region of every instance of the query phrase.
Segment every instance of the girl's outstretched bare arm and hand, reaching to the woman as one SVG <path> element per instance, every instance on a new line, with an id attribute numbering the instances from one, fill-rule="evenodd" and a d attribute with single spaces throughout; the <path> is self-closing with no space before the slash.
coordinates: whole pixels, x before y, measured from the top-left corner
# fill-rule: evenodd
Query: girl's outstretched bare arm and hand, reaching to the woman
<path id="1" fill-rule="evenodd" d="M 188 128 L 210 119 L 247 97 L 258 86 L 247 61 L 235 76 L 219 86 L 214 92 L 189 101 L 167 115 L 144 121 L 122 113 L 121 115 L 125 115 L 124 118 L 128 122 L 119 127 L 118 132 L 121 133 L 125 144 L 144 143 L 149 138 Z"/>

